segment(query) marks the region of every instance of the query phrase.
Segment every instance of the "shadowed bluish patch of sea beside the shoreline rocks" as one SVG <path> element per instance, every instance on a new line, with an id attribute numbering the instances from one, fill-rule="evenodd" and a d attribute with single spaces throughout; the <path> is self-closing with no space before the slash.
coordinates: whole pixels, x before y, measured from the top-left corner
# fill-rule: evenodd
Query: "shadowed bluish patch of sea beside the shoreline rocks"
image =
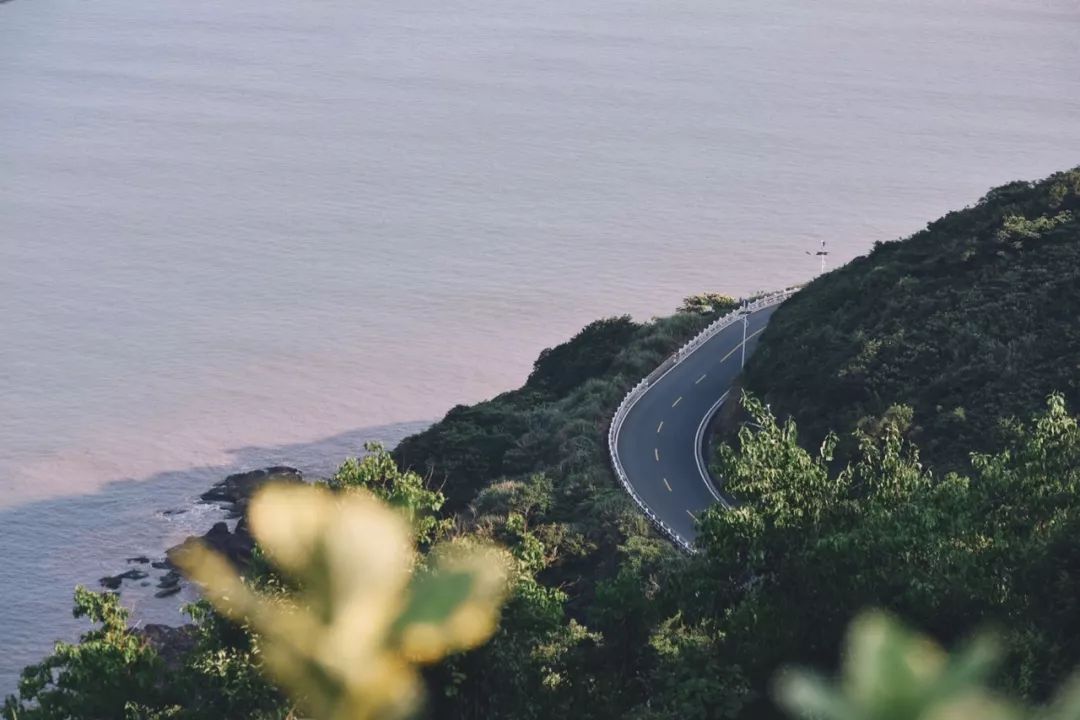
<path id="1" fill-rule="evenodd" d="M 186 621 L 184 604 L 198 599 L 180 589 L 156 598 L 158 584 L 168 575 L 166 551 L 189 536 L 202 536 L 217 524 L 231 531 L 237 519 L 220 503 L 201 495 L 226 477 L 292 463 L 306 477 L 322 477 L 349 454 L 362 452 L 365 440 L 388 447 L 431 425 L 430 420 L 373 425 L 306 444 L 245 448 L 244 466 L 193 467 L 163 471 L 141 479 L 109 483 L 93 492 L 35 500 L 0 507 L 0 696 L 15 692 L 23 668 L 45 657 L 57 640 L 73 641 L 86 630 L 84 620 L 71 615 L 77 585 L 104 589 L 99 580 L 132 569 L 148 576 L 123 580 L 123 604 L 136 626 L 178 626 Z M 127 558 L 149 562 L 126 562 Z M 143 585 L 143 583 L 148 583 Z"/>

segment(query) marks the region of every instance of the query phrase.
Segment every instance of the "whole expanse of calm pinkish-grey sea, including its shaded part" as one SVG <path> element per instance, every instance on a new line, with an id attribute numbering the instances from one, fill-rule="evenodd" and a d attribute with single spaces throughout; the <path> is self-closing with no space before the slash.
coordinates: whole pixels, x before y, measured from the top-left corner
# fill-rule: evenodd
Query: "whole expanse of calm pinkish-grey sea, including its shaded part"
<path id="1" fill-rule="evenodd" d="M 1080 162 L 1078 38 L 1074 0 L 0 6 L 0 692 L 226 472 Z"/>

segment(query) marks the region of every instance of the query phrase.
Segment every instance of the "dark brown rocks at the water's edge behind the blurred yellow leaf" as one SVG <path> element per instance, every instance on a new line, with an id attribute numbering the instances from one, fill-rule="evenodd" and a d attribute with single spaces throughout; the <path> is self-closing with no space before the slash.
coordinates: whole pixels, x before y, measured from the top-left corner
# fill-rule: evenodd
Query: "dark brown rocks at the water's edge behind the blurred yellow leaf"
<path id="1" fill-rule="evenodd" d="M 145 555 L 127 558 L 129 565 L 137 567 L 130 568 L 116 575 L 106 575 L 98 583 L 109 590 L 119 590 L 124 582 L 138 582 L 141 586 L 149 586 L 149 569 L 163 571 L 158 580 L 158 590 L 153 594 L 157 598 L 166 598 L 176 595 L 183 589 L 184 575 L 174 563 L 176 554 L 192 543 L 203 543 L 214 551 L 227 557 L 233 565 L 244 568 L 251 563 L 252 549 L 255 541 L 247 528 L 247 507 L 252 498 L 268 484 L 281 483 L 303 483 L 303 474 L 295 467 L 286 465 L 274 465 L 264 467 L 247 473 L 237 473 L 229 475 L 220 483 L 214 485 L 210 490 L 199 497 L 200 503 L 218 505 L 222 507 L 227 515 L 226 519 L 237 520 L 237 527 L 229 530 L 227 521 L 215 522 L 214 526 L 202 535 L 191 535 L 183 543 L 174 545 L 165 551 L 165 556 L 159 560 L 153 560 Z M 149 630 L 151 626 L 145 629 Z M 152 626 L 158 628 L 157 635 L 165 636 L 162 628 L 166 626 Z M 149 634 L 147 639 L 154 642 Z"/>

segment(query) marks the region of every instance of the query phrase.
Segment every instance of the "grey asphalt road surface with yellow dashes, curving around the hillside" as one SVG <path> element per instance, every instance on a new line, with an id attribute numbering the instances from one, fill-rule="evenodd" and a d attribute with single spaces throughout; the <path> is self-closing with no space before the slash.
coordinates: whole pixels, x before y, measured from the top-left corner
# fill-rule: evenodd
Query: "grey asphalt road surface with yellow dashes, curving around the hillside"
<path id="1" fill-rule="evenodd" d="M 779 303 L 750 314 L 746 356 Z M 727 501 L 708 477 L 705 425 L 742 369 L 743 323 L 724 328 L 654 381 L 616 436 L 626 478 L 656 515 L 692 542 L 703 510 Z"/>

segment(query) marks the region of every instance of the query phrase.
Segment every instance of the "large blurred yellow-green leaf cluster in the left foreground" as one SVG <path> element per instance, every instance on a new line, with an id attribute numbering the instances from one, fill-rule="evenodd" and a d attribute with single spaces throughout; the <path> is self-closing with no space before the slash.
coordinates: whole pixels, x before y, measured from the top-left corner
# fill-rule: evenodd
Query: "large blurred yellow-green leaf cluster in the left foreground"
<path id="1" fill-rule="evenodd" d="M 180 562 L 215 607 L 255 629 L 267 669 L 320 720 L 408 715 L 421 698 L 416 664 L 495 629 L 509 556 L 457 542 L 422 558 L 407 520 L 366 490 L 271 487 L 251 524 L 294 593 L 256 593 L 204 547 Z"/>

